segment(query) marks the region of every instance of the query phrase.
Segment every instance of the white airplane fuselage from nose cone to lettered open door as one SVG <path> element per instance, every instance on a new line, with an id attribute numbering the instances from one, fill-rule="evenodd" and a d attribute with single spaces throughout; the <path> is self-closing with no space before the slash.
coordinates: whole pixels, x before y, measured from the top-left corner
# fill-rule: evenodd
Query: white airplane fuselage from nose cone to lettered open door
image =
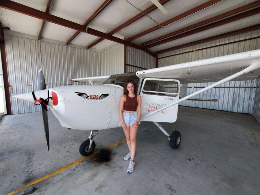
<path id="1" fill-rule="evenodd" d="M 165 80 L 165 79 L 164 79 Z M 151 79 L 155 85 L 161 82 L 158 79 Z M 174 80 L 175 83 L 179 82 Z M 158 83 L 159 85 L 159 83 Z M 179 86 L 179 85 L 178 85 Z M 142 98 L 142 115 L 145 115 L 179 100 L 179 94 L 166 96 L 166 92 L 144 93 L 143 86 L 140 96 Z M 157 87 L 158 90 L 158 87 Z M 55 87 L 35 91 L 37 100 L 40 98 L 49 100 L 48 107 L 52 110 L 60 124 L 65 128 L 95 131 L 120 127 L 119 102 L 123 95 L 123 87 L 120 85 L 73 85 Z M 178 87 L 179 91 L 179 87 Z M 53 96 L 56 94 L 56 99 Z M 163 94 L 161 94 L 163 93 Z M 15 95 L 15 98 L 34 102 L 32 93 Z M 175 122 L 177 119 L 178 104 L 162 110 L 141 121 Z"/>

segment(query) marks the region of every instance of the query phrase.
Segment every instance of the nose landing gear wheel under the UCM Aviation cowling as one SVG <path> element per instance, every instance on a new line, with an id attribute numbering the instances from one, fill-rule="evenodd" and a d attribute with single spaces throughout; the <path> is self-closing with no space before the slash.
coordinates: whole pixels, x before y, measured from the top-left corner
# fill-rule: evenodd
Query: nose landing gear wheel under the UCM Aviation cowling
<path id="1" fill-rule="evenodd" d="M 90 154 L 92 154 L 95 150 L 95 147 L 96 147 L 96 143 L 94 142 L 93 138 L 99 134 L 97 131 L 96 132 L 96 135 L 93 135 L 93 132 L 94 131 L 91 131 L 90 132 L 90 135 L 88 136 L 88 139 L 83 141 L 79 147 L 79 153 L 82 155 L 82 156 L 88 156 Z"/>

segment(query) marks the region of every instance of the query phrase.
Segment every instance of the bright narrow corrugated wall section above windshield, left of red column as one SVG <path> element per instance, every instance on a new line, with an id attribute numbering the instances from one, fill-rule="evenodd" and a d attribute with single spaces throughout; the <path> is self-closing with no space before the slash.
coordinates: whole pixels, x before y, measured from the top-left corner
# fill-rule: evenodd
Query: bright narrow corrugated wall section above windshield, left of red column
<path id="1" fill-rule="evenodd" d="M 124 73 L 124 45 L 117 44 L 100 52 L 101 75 Z"/>

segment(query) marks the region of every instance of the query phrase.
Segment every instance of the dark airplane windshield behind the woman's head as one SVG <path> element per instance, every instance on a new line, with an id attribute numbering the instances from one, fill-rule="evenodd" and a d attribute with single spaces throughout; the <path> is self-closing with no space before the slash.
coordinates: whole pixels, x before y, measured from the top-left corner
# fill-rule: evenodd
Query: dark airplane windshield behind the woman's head
<path id="1" fill-rule="evenodd" d="M 135 75 L 135 72 L 123 73 L 123 74 L 113 74 L 103 84 L 115 84 L 124 86 L 124 83 L 127 79 L 134 79 L 137 84 L 139 84 L 139 78 Z"/>

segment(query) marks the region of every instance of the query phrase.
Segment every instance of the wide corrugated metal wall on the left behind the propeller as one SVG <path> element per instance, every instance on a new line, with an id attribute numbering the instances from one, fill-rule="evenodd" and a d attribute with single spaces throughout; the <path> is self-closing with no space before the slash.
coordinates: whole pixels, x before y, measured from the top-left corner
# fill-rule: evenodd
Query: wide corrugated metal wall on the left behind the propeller
<path id="1" fill-rule="evenodd" d="M 10 94 L 38 90 L 38 70 L 47 88 L 80 85 L 70 78 L 100 76 L 100 53 L 5 34 Z M 12 114 L 40 111 L 40 106 L 11 97 Z"/>

